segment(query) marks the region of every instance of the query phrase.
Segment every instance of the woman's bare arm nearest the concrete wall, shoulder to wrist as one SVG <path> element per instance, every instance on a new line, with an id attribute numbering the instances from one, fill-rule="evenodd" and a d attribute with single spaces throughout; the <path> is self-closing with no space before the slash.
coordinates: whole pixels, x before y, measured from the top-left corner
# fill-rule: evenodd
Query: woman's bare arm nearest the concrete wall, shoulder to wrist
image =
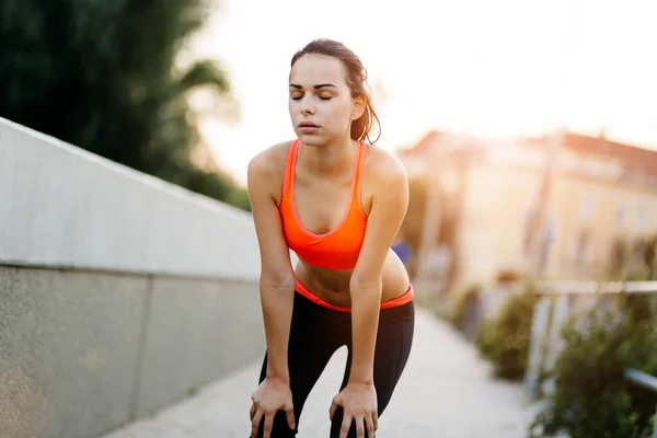
<path id="1" fill-rule="evenodd" d="M 284 238 L 280 214 L 273 197 L 274 150 L 266 150 L 249 163 L 247 186 L 255 232 L 261 252 L 261 302 L 267 343 L 267 379 L 289 383 L 288 339 L 292 316 L 295 272 Z"/>

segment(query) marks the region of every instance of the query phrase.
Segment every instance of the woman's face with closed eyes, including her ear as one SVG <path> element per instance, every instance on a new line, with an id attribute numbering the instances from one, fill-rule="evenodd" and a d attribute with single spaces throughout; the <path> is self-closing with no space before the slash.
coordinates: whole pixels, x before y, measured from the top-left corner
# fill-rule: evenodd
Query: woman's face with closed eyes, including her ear
<path id="1" fill-rule="evenodd" d="M 289 111 L 295 132 L 309 146 L 349 138 L 350 123 L 362 114 L 362 99 L 353 99 L 342 61 L 303 55 L 290 71 Z"/>

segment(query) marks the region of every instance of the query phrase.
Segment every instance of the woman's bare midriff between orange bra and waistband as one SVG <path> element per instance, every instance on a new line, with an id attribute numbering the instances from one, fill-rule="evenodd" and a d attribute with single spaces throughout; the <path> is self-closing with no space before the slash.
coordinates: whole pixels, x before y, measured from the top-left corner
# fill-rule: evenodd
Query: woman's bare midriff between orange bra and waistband
<path id="1" fill-rule="evenodd" d="M 351 269 L 334 270 L 312 266 L 299 261 L 296 266 L 297 279 L 312 293 L 332 306 L 351 307 L 349 280 Z M 389 250 L 383 265 L 381 302 L 393 300 L 406 293 L 410 286 L 408 274 L 404 264 Z"/>

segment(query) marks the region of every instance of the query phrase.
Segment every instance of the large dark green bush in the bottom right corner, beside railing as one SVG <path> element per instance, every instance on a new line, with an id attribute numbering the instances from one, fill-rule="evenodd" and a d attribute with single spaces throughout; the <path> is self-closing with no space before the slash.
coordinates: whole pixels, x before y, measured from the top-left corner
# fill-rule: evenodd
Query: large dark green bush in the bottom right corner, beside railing
<path id="1" fill-rule="evenodd" d="M 654 299 L 614 298 L 614 306 L 598 307 L 565 324 L 566 344 L 554 368 L 555 390 L 537 416 L 532 436 L 560 430 L 570 438 L 652 436 L 657 394 L 629 382 L 624 372 L 636 368 L 657 374 Z"/>

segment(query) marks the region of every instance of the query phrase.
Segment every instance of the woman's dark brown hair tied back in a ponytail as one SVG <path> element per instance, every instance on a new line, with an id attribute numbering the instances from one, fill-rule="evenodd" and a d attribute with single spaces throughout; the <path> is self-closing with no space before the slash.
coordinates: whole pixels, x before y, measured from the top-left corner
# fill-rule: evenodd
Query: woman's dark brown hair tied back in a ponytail
<path id="1" fill-rule="evenodd" d="M 290 68 L 295 66 L 295 62 L 299 60 L 303 55 L 325 55 L 333 58 L 337 58 L 342 61 L 347 70 L 347 85 L 351 90 L 351 97 L 364 96 L 366 108 L 362 116 L 351 123 L 351 139 L 356 141 L 364 141 L 367 139 L 370 143 L 374 143 L 381 137 L 381 122 L 374 112 L 372 100 L 367 92 L 367 70 L 362 66 L 360 58 L 354 54 L 344 44 L 326 38 L 319 38 L 310 42 L 301 50 L 297 51 L 292 56 L 292 62 Z M 374 126 L 374 123 L 379 127 L 379 137 L 374 141 L 370 139 L 370 132 Z"/>

